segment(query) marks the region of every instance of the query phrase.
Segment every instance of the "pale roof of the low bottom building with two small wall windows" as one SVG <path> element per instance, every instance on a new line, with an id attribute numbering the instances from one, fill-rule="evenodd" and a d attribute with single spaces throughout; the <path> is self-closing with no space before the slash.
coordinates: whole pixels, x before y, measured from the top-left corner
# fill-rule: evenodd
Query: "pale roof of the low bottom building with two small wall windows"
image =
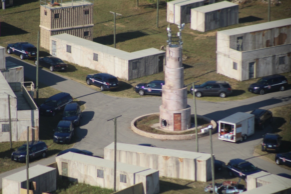
<path id="1" fill-rule="evenodd" d="M 65 154 L 62 154 L 60 156 L 56 156 L 56 158 L 66 159 L 74 162 L 79 162 L 83 164 L 89 164 L 94 166 L 99 166 L 103 168 L 113 168 L 114 167 L 114 161 L 112 160 L 106 160 L 103 158 L 98 158 L 94 156 L 87 156 L 84 154 L 78 154 L 73 152 L 68 152 Z M 158 170 L 149 169 L 141 166 L 136 166 L 132 164 L 126 164 L 121 162 L 116 162 L 116 170 L 119 171 L 125 171 L 129 173 L 135 173 L 135 174 L 143 174 L 150 175 L 154 172 L 157 172 Z M 144 171 L 143 173 L 141 173 Z"/>

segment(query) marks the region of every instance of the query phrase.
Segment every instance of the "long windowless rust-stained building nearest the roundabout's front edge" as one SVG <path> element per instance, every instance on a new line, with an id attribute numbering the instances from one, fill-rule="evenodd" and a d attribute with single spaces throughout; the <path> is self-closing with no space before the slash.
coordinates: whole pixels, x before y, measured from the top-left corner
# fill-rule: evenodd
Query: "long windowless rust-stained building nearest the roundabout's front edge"
<path id="1" fill-rule="evenodd" d="M 117 143 L 116 160 L 159 170 L 159 175 L 193 181 L 211 179 L 211 154 Z M 114 160 L 114 143 L 104 148 L 104 159 Z"/>

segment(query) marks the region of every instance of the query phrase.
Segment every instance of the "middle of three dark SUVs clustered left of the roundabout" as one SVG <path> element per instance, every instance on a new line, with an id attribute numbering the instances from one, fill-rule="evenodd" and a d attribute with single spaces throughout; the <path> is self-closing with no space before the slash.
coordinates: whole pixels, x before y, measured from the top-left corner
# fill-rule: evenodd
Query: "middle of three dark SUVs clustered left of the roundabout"
<path id="1" fill-rule="evenodd" d="M 74 125 L 80 125 L 82 118 L 81 108 L 78 103 L 66 104 L 63 112 L 63 120 L 71 121 Z"/>

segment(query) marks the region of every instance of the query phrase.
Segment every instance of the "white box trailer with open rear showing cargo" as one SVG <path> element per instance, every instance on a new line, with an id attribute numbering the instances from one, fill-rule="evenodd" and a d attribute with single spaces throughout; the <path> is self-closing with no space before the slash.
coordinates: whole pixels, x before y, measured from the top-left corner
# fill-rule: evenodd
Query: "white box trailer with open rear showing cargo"
<path id="1" fill-rule="evenodd" d="M 237 142 L 255 133 L 255 115 L 237 112 L 218 121 L 218 139 Z"/>

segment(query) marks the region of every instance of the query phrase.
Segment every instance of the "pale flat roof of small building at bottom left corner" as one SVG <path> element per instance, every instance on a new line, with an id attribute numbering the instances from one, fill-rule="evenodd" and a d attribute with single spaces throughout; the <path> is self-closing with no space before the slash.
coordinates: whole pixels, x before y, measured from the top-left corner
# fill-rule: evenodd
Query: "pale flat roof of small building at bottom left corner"
<path id="1" fill-rule="evenodd" d="M 38 164 L 36 166 L 29 168 L 29 179 L 45 174 L 47 172 L 53 171 L 53 170 L 56 170 L 56 169 Z M 3 179 L 9 179 L 9 180 L 17 181 L 17 182 L 24 182 L 26 181 L 26 169 L 20 172 L 16 172 L 7 177 L 4 177 Z"/>

